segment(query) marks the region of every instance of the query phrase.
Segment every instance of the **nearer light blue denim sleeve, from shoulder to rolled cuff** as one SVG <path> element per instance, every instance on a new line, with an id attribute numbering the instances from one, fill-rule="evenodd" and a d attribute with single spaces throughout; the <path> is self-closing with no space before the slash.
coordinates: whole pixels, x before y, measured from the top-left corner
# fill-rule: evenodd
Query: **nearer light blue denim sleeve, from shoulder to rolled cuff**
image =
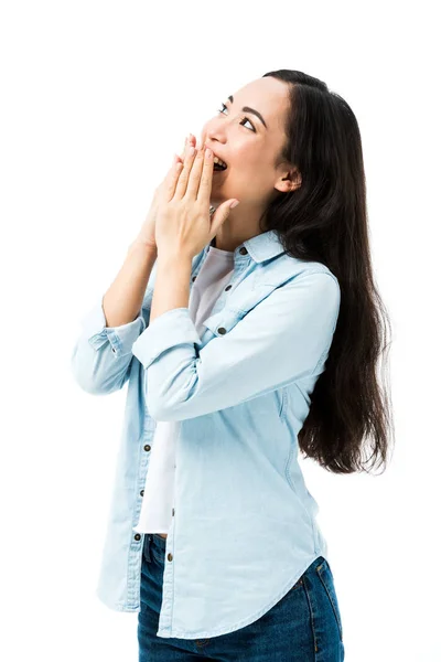
<path id="1" fill-rule="evenodd" d="M 155 318 L 135 341 L 157 420 L 183 420 L 265 395 L 322 371 L 340 310 L 327 271 L 276 288 L 226 334 L 201 343 L 189 308 Z"/>

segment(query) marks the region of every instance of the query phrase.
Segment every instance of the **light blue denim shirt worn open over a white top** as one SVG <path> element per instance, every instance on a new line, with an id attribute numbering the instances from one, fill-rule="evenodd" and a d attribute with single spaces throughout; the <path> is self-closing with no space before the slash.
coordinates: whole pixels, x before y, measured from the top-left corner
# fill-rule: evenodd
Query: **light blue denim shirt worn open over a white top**
<path id="1" fill-rule="evenodd" d="M 193 258 L 190 290 L 209 245 Z M 151 324 L 154 265 L 139 316 L 83 318 L 76 382 L 104 395 L 128 382 L 97 596 L 140 611 L 144 534 L 136 533 L 157 420 L 179 420 L 172 525 L 157 634 L 212 638 L 256 621 L 327 544 L 298 462 L 298 433 L 325 370 L 340 286 L 288 256 L 273 231 L 234 252 L 229 285 L 200 338 L 189 308 Z"/>

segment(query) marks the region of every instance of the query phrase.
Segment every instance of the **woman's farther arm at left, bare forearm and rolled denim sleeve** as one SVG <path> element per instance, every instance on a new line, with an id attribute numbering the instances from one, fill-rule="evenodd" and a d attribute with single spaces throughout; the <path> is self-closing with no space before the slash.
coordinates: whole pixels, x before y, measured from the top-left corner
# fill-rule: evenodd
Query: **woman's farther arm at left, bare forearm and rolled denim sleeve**
<path id="1" fill-rule="evenodd" d="M 154 264 L 155 253 L 133 242 L 115 281 L 83 318 L 71 367 L 75 381 L 87 393 L 112 393 L 126 383 L 132 360 L 131 346 L 149 324 Z"/>

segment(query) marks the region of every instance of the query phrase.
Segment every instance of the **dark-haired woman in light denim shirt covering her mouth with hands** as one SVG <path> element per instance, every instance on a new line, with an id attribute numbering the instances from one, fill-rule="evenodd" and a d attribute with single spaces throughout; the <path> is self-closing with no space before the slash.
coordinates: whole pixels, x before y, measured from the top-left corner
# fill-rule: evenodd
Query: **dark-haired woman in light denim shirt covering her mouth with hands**
<path id="1" fill-rule="evenodd" d="M 85 391 L 129 383 L 97 592 L 138 612 L 140 662 L 343 660 L 297 455 L 386 463 L 357 121 L 281 70 L 204 125 L 225 170 L 192 143 L 73 353 Z"/>

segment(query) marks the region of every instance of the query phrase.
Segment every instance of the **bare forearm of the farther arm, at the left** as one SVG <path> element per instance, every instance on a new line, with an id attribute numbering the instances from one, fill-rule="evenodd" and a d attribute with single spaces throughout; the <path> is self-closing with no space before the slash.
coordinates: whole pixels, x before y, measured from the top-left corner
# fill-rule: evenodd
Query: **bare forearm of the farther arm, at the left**
<path id="1" fill-rule="evenodd" d="M 125 263 L 103 298 L 107 327 L 132 322 L 139 314 L 157 252 L 140 242 L 130 244 Z"/>

